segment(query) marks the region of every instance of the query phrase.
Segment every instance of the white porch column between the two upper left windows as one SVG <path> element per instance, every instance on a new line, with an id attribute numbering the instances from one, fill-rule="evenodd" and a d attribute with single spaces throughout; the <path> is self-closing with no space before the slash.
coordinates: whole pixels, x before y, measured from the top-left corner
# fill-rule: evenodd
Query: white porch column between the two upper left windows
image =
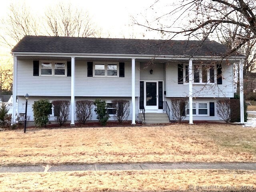
<path id="1" fill-rule="evenodd" d="M 71 58 L 71 122 L 70 125 L 75 124 L 75 58 Z"/>

